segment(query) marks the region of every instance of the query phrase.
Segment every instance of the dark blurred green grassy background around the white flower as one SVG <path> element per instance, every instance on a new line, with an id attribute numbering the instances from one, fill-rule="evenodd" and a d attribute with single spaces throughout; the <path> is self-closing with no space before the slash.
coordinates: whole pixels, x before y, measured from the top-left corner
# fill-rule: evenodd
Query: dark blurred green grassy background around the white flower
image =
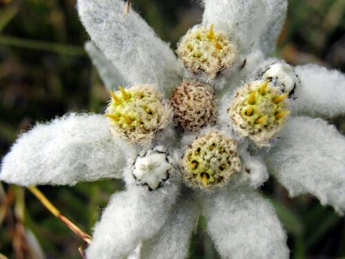
<path id="1" fill-rule="evenodd" d="M 316 62 L 344 72 L 345 1 L 289 2 L 276 55 L 293 65 Z M 68 111 L 99 113 L 108 101 L 108 93 L 83 50 L 88 35 L 75 5 L 75 0 L 0 0 L 1 156 L 34 122 Z M 136 0 L 132 7 L 173 48 L 202 15 L 197 1 Z M 334 122 L 344 133 L 344 117 Z M 88 233 L 110 195 L 122 188 L 116 180 L 40 187 Z M 262 191 L 284 223 L 292 258 L 345 258 L 344 219 L 331 207 L 322 207 L 308 196 L 289 199 L 274 180 Z M 82 243 L 28 191 L 0 183 L 0 253 L 4 256 L 81 258 L 78 247 Z M 190 258 L 219 258 L 202 219 L 193 234 Z"/>

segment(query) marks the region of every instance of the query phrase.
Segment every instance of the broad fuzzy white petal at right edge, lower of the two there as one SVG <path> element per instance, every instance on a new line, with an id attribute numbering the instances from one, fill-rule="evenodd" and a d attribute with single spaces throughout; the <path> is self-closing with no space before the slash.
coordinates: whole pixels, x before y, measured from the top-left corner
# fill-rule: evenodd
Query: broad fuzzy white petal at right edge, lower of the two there
<path id="1" fill-rule="evenodd" d="M 291 196 L 311 193 L 345 211 L 345 137 L 322 119 L 290 119 L 266 160 Z"/>

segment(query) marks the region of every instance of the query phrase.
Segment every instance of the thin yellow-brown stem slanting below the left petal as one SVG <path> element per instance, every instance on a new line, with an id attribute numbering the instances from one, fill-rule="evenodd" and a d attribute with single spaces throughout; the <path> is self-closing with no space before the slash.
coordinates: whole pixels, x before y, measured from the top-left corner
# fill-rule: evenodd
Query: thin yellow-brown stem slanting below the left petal
<path id="1" fill-rule="evenodd" d="M 67 227 L 69 227 L 73 232 L 75 232 L 80 238 L 82 238 L 85 242 L 90 244 L 92 242 L 91 236 L 89 236 L 87 233 L 82 231 L 79 227 L 77 227 L 76 224 L 74 224 L 72 221 L 70 221 L 66 215 L 63 215 L 61 211 L 59 211 L 39 189 L 37 189 L 34 186 L 28 187 L 28 190 L 36 196 L 36 198 L 46 207 L 52 215 L 55 215 L 55 217 L 59 218 L 64 224 L 66 224 Z"/>

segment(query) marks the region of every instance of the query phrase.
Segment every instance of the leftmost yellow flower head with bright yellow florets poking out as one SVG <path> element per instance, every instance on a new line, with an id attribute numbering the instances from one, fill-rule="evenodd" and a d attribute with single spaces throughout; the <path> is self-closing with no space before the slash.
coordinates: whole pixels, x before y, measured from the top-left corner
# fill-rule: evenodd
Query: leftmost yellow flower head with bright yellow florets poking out
<path id="1" fill-rule="evenodd" d="M 162 104 L 161 94 L 154 86 L 137 85 L 119 91 L 110 90 L 111 102 L 106 110 L 110 118 L 110 132 L 129 142 L 145 144 L 155 131 L 170 121 L 171 111 Z"/>

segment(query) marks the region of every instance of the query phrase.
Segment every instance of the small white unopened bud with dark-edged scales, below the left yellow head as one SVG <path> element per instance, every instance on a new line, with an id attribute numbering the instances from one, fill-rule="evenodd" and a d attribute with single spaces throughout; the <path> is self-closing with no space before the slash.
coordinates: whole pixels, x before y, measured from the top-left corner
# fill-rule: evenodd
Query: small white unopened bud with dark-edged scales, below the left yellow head
<path id="1" fill-rule="evenodd" d="M 132 174 L 138 184 L 148 186 L 152 191 L 168 180 L 172 168 L 172 160 L 166 149 L 163 146 L 156 146 L 138 155 Z"/>

